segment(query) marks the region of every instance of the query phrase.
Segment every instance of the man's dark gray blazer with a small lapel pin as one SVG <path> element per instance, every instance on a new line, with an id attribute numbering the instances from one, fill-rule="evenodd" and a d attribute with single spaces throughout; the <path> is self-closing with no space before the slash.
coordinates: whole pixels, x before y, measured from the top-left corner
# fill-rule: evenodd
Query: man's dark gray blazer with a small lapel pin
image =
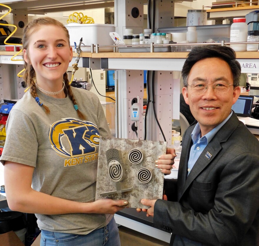
<path id="1" fill-rule="evenodd" d="M 170 202 L 155 203 L 154 227 L 172 232 L 170 245 L 259 245 L 259 141 L 233 113 L 187 177 L 193 128 L 183 136 L 177 185 L 165 180 Z"/>

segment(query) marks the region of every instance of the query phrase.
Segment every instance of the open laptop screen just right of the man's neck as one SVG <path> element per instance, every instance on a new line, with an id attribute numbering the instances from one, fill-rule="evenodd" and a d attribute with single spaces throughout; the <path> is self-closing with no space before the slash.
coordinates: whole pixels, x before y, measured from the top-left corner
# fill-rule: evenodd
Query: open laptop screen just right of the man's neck
<path id="1" fill-rule="evenodd" d="M 238 117 L 251 117 L 254 96 L 240 95 L 232 108 Z"/>

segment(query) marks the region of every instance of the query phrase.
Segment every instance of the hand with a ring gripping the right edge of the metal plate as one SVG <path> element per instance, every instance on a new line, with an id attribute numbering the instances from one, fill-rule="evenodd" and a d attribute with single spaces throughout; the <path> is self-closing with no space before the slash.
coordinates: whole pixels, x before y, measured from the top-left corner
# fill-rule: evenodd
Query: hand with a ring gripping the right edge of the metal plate
<path id="1" fill-rule="evenodd" d="M 167 148 L 166 154 L 158 157 L 155 161 L 155 167 L 159 168 L 164 174 L 170 174 L 174 166 L 174 159 L 176 157 L 175 149 Z"/>

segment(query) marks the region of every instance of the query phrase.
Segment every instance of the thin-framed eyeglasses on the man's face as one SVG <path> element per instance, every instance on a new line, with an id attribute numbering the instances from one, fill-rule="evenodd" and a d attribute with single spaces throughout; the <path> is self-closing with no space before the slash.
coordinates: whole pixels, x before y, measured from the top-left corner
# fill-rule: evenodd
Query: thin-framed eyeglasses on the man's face
<path id="1" fill-rule="evenodd" d="M 215 82 L 214 84 L 206 84 L 204 82 L 195 82 L 192 84 L 188 84 L 188 86 L 190 86 L 194 92 L 199 92 L 199 93 L 204 93 L 207 90 L 209 85 L 211 85 L 212 89 L 219 94 L 220 92 L 228 92 L 229 87 L 233 84 L 228 84 L 227 82 L 222 82 L 222 81 Z"/>

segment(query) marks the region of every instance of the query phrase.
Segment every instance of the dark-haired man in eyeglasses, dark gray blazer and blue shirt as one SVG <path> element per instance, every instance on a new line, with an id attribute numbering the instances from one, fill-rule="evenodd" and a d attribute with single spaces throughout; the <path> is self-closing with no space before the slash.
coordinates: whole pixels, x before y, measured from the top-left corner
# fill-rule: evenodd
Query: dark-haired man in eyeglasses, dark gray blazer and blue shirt
<path id="1" fill-rule="evenodd" d="M 172 233 L 170 245 L 259 245 L 259 142 L 231 110 L 240 72 L 224 46 L 195 47 L 185 61 L 182 94 L 198 123 L 183 135 L 165 200 L 141 201 L 154 227 Z"/>

